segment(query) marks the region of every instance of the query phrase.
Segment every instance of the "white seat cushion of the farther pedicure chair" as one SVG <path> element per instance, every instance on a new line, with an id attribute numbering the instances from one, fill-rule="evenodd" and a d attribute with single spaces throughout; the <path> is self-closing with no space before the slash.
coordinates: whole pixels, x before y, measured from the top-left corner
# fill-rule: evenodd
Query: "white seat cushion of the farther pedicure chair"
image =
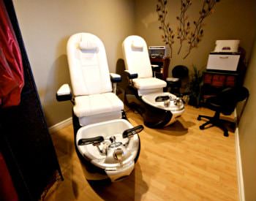
<path id="1" fill-rule="evenodd" d="M 156 77 L 136 78 L 136 79 L 133 79 L 132 81 L 133 81 L 135 88 L 138 88 L 138 89 L 166 87 L 166 82 L 164 80 L 160 80 Z"/>

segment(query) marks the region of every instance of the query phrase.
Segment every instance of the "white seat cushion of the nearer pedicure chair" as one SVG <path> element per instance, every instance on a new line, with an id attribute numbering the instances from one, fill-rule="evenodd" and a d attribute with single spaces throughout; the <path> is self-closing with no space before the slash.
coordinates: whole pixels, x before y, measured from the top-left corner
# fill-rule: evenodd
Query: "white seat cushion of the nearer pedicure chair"
<path id="1" fill-rule="evenodd" d="M 123 102 L 112 92 L 75 97 L 74 113 L 78 118 L 123 109 Z"/>

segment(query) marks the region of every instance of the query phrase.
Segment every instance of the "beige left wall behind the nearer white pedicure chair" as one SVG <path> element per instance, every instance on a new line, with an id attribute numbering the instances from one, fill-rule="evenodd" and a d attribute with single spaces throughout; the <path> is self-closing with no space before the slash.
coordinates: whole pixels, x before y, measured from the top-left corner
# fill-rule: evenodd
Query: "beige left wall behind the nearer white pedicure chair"
<path id="1" fill-rule="evenodd" d="M 21 33 L 34 73 L 48 126 L 71 116 L 69 102 L 56 102 L 62 83 L 69 83 L 67 39 L 91 32 L 105 44 L 110 72 L 122 58 L 121 42 L 135 29 L 130 0 L 14 0 Z"/>

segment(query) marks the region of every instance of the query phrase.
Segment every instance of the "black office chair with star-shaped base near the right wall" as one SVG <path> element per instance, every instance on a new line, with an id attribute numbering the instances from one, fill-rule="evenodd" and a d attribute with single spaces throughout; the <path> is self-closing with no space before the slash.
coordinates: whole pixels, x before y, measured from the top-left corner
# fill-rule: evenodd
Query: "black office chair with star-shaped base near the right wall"
<path id="1" fill-rule="evenodd" d="M 213 117 L 206 115 L 199 115 L 197 120 L 201 118 L 206 118 L 209 121 L 206 121 L 205 124 L 199 126 L 200 129 L 206 129 L 208 124 L 212 126 L 217 126 L 224 131 L 224 136 L 228 137 L 228 131 L 224 123 L 230 122 L 224 119 L 220 119 L 220 113 L 224 115 L 231 115 L 236 108 L 236 104 L 244 99 L 249 97 L 249 91 L 245 87 L 236 87 L 236 88 L 225 88 L 217 96 L 212 96 L 206 99 L 205 107 L 208 107 L 210 110 L 216 111 Z M 232 122 L 230 122 L 232 123 Z"/>

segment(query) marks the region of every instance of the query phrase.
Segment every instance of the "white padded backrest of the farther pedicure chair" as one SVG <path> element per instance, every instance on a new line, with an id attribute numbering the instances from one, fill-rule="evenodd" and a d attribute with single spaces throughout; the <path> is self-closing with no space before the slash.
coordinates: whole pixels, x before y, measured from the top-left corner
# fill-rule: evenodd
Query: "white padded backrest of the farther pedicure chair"
<path id="1" fill-rule="evenodd" d="M 129 36 L 124 39 L 122 46 L 126 69 L 137 72 L 138 78 L 152 77 L 146 41 L 142 37 Z"/>

